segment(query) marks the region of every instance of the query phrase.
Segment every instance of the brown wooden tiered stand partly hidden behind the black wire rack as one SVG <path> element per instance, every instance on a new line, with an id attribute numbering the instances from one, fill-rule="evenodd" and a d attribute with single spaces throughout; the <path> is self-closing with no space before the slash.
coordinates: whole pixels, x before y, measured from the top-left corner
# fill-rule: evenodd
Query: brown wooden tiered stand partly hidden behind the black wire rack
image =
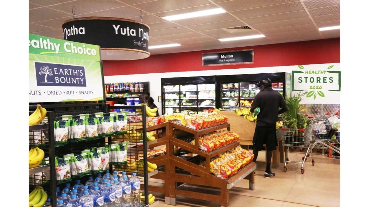
<path id="1" fill-rule="evenodd" d="M 164 122 L 155 126 L 146 127 L 146 131 L 155 131 L 158 129 L 164 129 L 165 134 L 163 137 L 157 137 L 158 135 L 155 134 L 156 139 L 154 141 L 148 141 L 147 146 L 148 148 L 159 147 L 165 145 L 166 149 L 169 148 L 169 122 Z M 150 192 L 157 192 L 157 193 L 164 193 L 166 197 L 169 197 L 169 154 L 168 151 L 165 155 L 161 155 L 159 157 L 148 158 L 148 162 L 154 163 L 158 166 L 158 174 L 151 176 L 151 178 L 163 180 L 164 185 L 151 185 L 149 183 L 149 191 Z"/>

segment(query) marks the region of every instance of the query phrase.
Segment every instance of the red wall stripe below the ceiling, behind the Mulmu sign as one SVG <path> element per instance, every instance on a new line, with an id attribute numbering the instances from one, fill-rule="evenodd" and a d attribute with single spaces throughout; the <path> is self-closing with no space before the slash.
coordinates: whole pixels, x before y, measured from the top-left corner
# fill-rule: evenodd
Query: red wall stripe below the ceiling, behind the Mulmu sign
<path id="1" fill-rule="evenodd" d="M 202 53 L 254 49 L 253 64 L 202 66 Z M 103 61 L 104 76 L 197 70 L 291 66 L 340 62 L 340 38 L 152 55 L 141 60 Z M 211 75 L 211 74 L 209 74 Z"/>

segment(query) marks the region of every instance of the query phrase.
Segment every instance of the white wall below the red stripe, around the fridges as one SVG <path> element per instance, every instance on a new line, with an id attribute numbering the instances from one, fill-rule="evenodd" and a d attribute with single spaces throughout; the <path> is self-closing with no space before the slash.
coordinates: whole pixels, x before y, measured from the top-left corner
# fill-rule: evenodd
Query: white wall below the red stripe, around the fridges
<path id="1" fill-rule="evenodd" d="M 333 65 L 332 69 L 327 69 Z M 328 64 L 311 64 L 304 65 L 304 70 L 340 70 L 340 63 L 328 63 Z M 158 106 L 159 112 L 161 112 L 161 103 L 158 103 L 158 96 L 161 96 L 161 78 L 171 77 L 190 77 L 190 76 L 214 76 L 214 75 L 233 75 L 233 74 L 253 74 L 253 73 L 280 73 L 292 71 L 304 71 L 297 66 L 279 66 L 279 67 L 260 67 L 260 68 L 242 68 L 242 69 L 224 69 L 224 70 L 202 70 L 202 71 L 185 71 L 185 72 L 172 72 L 172 73 L 149 73 L 149 74 L 134 74 L 134 75 L 120 75 L 120 76 L 104 76 L 105 83 L 114 82 L 150 82 L 150 95 L 154 98 L 154 103 Z M 319 76 L 308 74 L 308 76 Z M 297 81 L 296 81 L 297 82 Z M 310 91 L 309 84 L 295 83 L 295 88 Z M 315 85 L 315 84 L 312 84 Z M 324 90 L 324 88 L 323 88 Z M 293 92 L 296 93 L 296 92 Z M 310 98 L 304 98 L 301 103 L 340 103 L 339 92 L 324 91 L 325 97 L 317 96 L 315 100 Z M 160 113 L 161 114 L 161 113 Z"/>

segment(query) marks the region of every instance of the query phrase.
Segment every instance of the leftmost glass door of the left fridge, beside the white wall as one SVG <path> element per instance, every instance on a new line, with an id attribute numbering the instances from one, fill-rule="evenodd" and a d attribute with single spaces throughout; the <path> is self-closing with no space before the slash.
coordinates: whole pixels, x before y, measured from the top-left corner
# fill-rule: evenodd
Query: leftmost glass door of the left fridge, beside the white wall
<path id="1" fill-rule="evenodd" d="M 179 112 L 179 85 L 164 85 L 163 94 L 165 114 Z"/>

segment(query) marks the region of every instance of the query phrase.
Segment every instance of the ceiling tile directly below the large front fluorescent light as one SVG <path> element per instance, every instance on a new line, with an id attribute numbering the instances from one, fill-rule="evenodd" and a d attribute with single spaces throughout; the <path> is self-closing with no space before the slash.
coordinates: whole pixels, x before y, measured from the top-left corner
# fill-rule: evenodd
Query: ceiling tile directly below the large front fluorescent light
<path id="1" fill-rule="evenodd" d="M 215 14 L 215 15 L 205 16 L 201 18 L 196 18 L 196 21 L 194 21 L 193 18 L 190 18 L 190 19 L 184 19 L 184 20 L 176 20 L 172 22 L 176 22 L 177 24 L 180 24 L 183 26 L 190 26 L 190 25 L 208 24 L 212 22 L 221 22 L 221 21 L 229 21 L 229 20 L 236 20 L 236 18 L 228 13 L 223 13 L 223 14 Z"/>

